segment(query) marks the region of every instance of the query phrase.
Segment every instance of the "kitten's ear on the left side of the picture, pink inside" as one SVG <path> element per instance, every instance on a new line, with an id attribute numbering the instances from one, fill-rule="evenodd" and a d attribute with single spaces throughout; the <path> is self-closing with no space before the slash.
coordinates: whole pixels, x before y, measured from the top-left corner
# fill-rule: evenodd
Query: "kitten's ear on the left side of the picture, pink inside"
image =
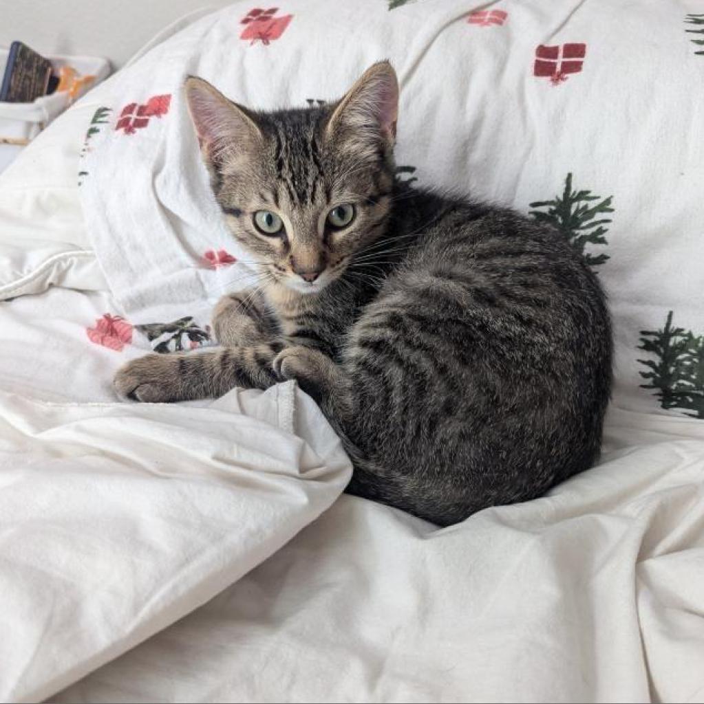
<path id="1" fill-rule="evenodd" d="M 218 168 L 259 146 L 261 132 L 252 117 L 209 82 L 189 76 L 184 92 L 206 163 Z"/>

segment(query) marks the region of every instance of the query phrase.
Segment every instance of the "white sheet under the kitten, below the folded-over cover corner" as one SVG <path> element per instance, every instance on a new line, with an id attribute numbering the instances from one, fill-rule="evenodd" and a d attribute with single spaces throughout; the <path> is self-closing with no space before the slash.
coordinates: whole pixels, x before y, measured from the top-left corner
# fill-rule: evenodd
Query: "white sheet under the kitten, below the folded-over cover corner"
<path id="1" fill-rule="evenodd" d="M 600 467 L 456 527 L 343 496 L 57 702 L 704 700 L 704 428 L 617 411 Z"/>

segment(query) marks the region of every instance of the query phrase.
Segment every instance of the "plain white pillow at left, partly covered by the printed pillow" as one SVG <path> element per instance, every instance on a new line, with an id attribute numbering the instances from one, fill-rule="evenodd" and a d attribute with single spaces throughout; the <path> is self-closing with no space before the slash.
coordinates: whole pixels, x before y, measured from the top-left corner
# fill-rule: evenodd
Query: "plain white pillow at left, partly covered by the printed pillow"
<path id="1" fill-rule="evenodd" d="M 208 11 L 200 8 L 175 20 L 128 65 Z M 103 88 L 101 83 L 59 115 L 0 172 L 0 301 L 52 285 L 106 289 L 78 192 L 78 160 Z"/>

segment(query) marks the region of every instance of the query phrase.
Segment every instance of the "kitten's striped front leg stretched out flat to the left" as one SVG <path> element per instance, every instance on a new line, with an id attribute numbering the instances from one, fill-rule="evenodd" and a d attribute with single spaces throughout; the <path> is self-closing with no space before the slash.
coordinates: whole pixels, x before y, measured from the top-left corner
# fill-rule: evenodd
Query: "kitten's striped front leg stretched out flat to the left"
<path id="1" fill-rule="evenodd" d="M 261 343 L 207 352 L 150 354 L 121 367 L 113 384 L 122 398 L 145 403 L 218 398 L 235 386 L 268 389 L 279 379 L 273 359 L 281 347 Z"/>

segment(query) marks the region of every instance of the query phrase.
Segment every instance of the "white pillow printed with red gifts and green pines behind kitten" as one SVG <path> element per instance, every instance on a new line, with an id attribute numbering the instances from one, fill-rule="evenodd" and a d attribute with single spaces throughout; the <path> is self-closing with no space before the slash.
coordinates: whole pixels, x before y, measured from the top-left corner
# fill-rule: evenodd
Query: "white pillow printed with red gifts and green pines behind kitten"
<path id="1" fill-rule="evenodd" d="M 122 187 L 100 189 L 102 209 L 89 213 L 91 237 L 103 225 L 101 241 L 121 248 L 105 270 L 128 313 L 144 306 L 145 284 L 168 300 L 191 284 L 206 290 L 195 260 L 203 248 L 189 238 L 222 234 L 202 210 L 206 178 L 187 129 L 185 75 L 273 108 L 337 98 L 372 61 L 390 58 L 402 85 L 398 163 L 415 168 L 421 186 L 471 191 L 557 224 L 554 209 L 571 175 L 578 200 L 595 197 L 573 210 L 602 206 L 567 234 L 588 235 L 586 253 L 603 260 L 597 270 L 614 314 L 616 402 L 704 417 L 704 93 L 695 88 L 704 57 L 691 42 L 697 35 L 687 33 L 700 26 L 695 15 L 649 0 L 617 4 L 607 15 L 595 0 L 576 10 L 567 0 L 504 0 L 490 9 L 473 0 L 279 5 L 262 19 L 250 4 L 234 4 L 99 87 L 112 117 L 95 148 L 140 165 L 136 174 L 111 174 Z M 115 129 L 128 103 L 165 94 L 171 109 L 148 130 L 125 137 Z M 154 213 L 154 222 L 140 220 L 143 232 L 105 214 L 124 210 L 116 201 L 124 193 Z M 166 262 L 173 291 L 159 278 Z"/>

